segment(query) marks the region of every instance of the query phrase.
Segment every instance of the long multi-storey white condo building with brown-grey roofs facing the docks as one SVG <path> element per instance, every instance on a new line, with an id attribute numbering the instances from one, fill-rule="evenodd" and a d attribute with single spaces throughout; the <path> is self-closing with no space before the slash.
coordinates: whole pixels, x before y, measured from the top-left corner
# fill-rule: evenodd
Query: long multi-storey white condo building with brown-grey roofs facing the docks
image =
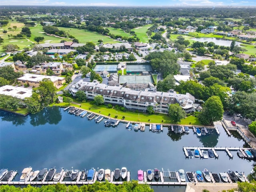
<path id="1" fill-rule="evenodd" d="M 169 104 L 178 103 L 185 112 L 194 112 L 195 98 L 189 93 L 177 94 L 174 90 L 169 92 L 152 92 L 146 90 L 131 90 L 123 86 L 106 86 L 96 82 L 80 80 L 70 87 L 70 94 L 76 95 L 78 90 L 84 91 L 87 98 L 93 100 L 96 95 L 102 95 L 106 104 L 119 105 L 131 110 L 146 112 L 148 106 L 153 106 L 155 112 L 168 114 Z"/>

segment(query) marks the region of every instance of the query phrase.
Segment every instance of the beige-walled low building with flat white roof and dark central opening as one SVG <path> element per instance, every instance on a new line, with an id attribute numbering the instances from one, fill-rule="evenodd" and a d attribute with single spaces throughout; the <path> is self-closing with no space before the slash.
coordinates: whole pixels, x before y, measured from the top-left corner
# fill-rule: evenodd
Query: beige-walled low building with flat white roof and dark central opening
<path id="1" fill-rule="evenodd" d="M 39 87 L 39 82 L 44 78 L 49 79 L 53 82 L 55 87 L 58 87 L 66 82 L 65 77 L 56 77 L 56 76 L 46 76 L 46 75 L 37 75 L 37 74 L 24 74 L 22 77 L 18 78 L 18 83 L 22 85 L 29 85 L 33 87 Z"/>

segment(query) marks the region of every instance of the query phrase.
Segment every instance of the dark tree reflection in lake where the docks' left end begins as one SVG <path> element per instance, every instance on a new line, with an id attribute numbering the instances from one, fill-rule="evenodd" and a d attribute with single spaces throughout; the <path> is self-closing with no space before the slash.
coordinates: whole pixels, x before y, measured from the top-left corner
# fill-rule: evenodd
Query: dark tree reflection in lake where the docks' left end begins
<path id="1" fill-rule="evenodd" d="M 30 124 L 33 126 L 44 125 L 46 123 L 57 125 L 62 118 L 60 109 L 58 107 L 47 107 L 41 112 L 33 114 L 30 116 Z"/>

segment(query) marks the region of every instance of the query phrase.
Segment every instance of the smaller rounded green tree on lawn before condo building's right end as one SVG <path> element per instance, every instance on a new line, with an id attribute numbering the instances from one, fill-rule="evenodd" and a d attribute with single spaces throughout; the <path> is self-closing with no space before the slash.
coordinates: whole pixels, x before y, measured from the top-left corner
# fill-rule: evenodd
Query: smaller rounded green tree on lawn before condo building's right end
<path id="1" fill-rule="evenodd" d="M 170 104 L 169 110 L 168 110 L 168 116 L 171 122 L 176 124 L 186 117 L 186 112 L 182 109 L 182 107 L 178 103 Z"/>

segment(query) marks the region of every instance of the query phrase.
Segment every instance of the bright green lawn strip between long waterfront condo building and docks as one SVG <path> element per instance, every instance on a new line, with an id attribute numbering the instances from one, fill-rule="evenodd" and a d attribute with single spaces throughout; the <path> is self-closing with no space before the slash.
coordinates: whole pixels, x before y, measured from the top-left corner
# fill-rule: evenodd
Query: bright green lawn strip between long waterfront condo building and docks
<path id="1" fill-rule="evenodd" d="M 107 106 L 96 106 L 96 105 L 90 104 L 90 102 L 78 102 L 76 100 L 74 100 L 74 102 L 78 103 L 78 105 L 72 104 L 72 106 L 79 107 L 84 110 L 88 110 L 98 114 L 102 114 L 104 116 L 108 116 L 108 114 L 110 114 L 110 118 L 114 118 L 117 115 L 118 119 L 122 119 L 122 117 L 125 116 L 124 120 L 128 120 L 128 121 L 164 123 L 164 124 L 171 123 L 169 120 L 169 117 L 166 114 L 157 113 L 153 115 L 148 115 L 144 113 L 136 113 L 136 112 L 130 112 L 130 111 L 122 112 L 120 110 L 116 110 L 112 108 L 110 109 Z M 68 106 L 67 103 L 60 103 L 60 104 L 54 104 L 54 105 Z M 194 116 L 186 117 L 186 119 L 183 119 L 180 124 L 188 125 L 190 122 L 191 122 L 191 125 L 201 125 L 198 121 L 198 118 L 195 118 Z"/>

